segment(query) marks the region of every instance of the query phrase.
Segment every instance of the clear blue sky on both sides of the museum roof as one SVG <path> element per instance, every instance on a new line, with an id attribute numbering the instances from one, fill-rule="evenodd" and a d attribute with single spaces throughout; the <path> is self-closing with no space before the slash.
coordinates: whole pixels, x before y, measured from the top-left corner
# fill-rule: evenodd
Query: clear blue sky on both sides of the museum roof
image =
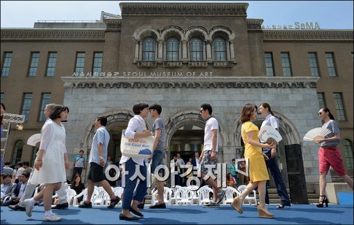
<path id="1" fill-rule="evenodd" d="M 120 15 L 119 2 L 126 1 L 1 1 L 1 28 L 33 28 L 45 19 L 96 20 L 101 11 Z M 247 18 L 264 19 L 265 26 L 317 22 L 321 29 L 353 29 L 353 1 L 217 2 L 249 3 Z"/>

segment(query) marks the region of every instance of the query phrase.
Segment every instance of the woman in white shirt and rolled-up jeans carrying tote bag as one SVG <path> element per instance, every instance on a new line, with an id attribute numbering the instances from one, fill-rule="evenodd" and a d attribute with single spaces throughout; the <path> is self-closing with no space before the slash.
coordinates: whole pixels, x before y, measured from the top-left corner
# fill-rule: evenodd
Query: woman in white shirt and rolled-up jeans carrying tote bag
<path id="1" fill-rule="evenodd" d="M 133 112 L 135 116 L 129 120 L 125 133 L 126 138 L 137 139 L 151 136 L 151 132 L 146 129 L 144 120 L 144 118 L 146 118 L 146 116 L 149 114 L 149 105 L 145 102 L 137 102 L 133 105 Z M 120 163 L 125 165 L 125 171 L 128 171 L 129 174 L 127 174 L 125 177 L 126 186 L 123 192 L 121 206 L 122 210 L 121 214 L 119 215 L 119 219 L 139 219 L 139 217 L 135 217 L 134 215 L 130 214 L 130 212 L 140 217 L 144 216 L 142 213 L 140 213 L 140 209 L 137 208 L 137 205 L 142 203 L 144 200 L 147 190 L 146 165 L 144 163 L 144 159 L 122 155 Z M 140 165 L 140 174 L 142 174 L 142 177 L 145 177 L 144 181 L 139 177 L 136 177 L 133 181 L 130 180 L 130 177 L 135 174 L 135 165 Z M 122 176 L 124 176 L 124 174 L 122 174 Z M 137 184 L 138 179 L 139 183 Z"/>

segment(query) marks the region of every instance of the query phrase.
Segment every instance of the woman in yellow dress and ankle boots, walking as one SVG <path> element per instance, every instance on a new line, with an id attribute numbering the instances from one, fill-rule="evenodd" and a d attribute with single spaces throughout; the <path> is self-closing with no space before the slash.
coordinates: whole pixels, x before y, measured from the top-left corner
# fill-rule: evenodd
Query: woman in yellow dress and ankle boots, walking
<path id="1" fill-rule="evenodd" d="M 263 148 L 273 148 L 274 144 L 261 144 L 258 140 L 259 129 L 252 122 L 257 119 L 257 106 L 247 103 L 241 110 L 241 136 L 244 141 L 245 153 L 244 157 L 248 160 L 250 183 L 238 197 L 235 197 L 231 204 L 240 214 L 244 198 L 258 186 L 260 204 L 258 206 L 258 215 L 262 218 L 273 218 L 274 215 L 269 212 L 265 205 L 266 182 L 269 180 L 267 166 L 264 163 L 264 157 L 267 156 L 262 152 Z"/>

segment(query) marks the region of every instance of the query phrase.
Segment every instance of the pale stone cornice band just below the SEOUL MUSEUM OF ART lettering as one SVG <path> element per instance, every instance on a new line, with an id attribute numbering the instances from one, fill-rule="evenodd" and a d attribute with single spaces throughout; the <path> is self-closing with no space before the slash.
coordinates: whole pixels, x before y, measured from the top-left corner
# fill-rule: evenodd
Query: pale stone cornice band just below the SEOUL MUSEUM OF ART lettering
<path id="1" fill-rule="evenodd" d="M 65 88 L 316 88 L 313 77 L 62 77 Z"/>

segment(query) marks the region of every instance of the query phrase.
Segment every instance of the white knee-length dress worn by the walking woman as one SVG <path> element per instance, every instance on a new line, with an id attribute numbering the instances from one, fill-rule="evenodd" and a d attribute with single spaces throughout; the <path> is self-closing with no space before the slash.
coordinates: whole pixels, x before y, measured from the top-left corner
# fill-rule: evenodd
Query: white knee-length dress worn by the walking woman
<path id="1" fill-rule="evenodd" d="M 49 120 L 42 128 L 40 150 L 44 150 L 42 168 L 34 169 L 31 183 L 58 183 L 67 180 L 64 152 L 65 128 Z"/>

